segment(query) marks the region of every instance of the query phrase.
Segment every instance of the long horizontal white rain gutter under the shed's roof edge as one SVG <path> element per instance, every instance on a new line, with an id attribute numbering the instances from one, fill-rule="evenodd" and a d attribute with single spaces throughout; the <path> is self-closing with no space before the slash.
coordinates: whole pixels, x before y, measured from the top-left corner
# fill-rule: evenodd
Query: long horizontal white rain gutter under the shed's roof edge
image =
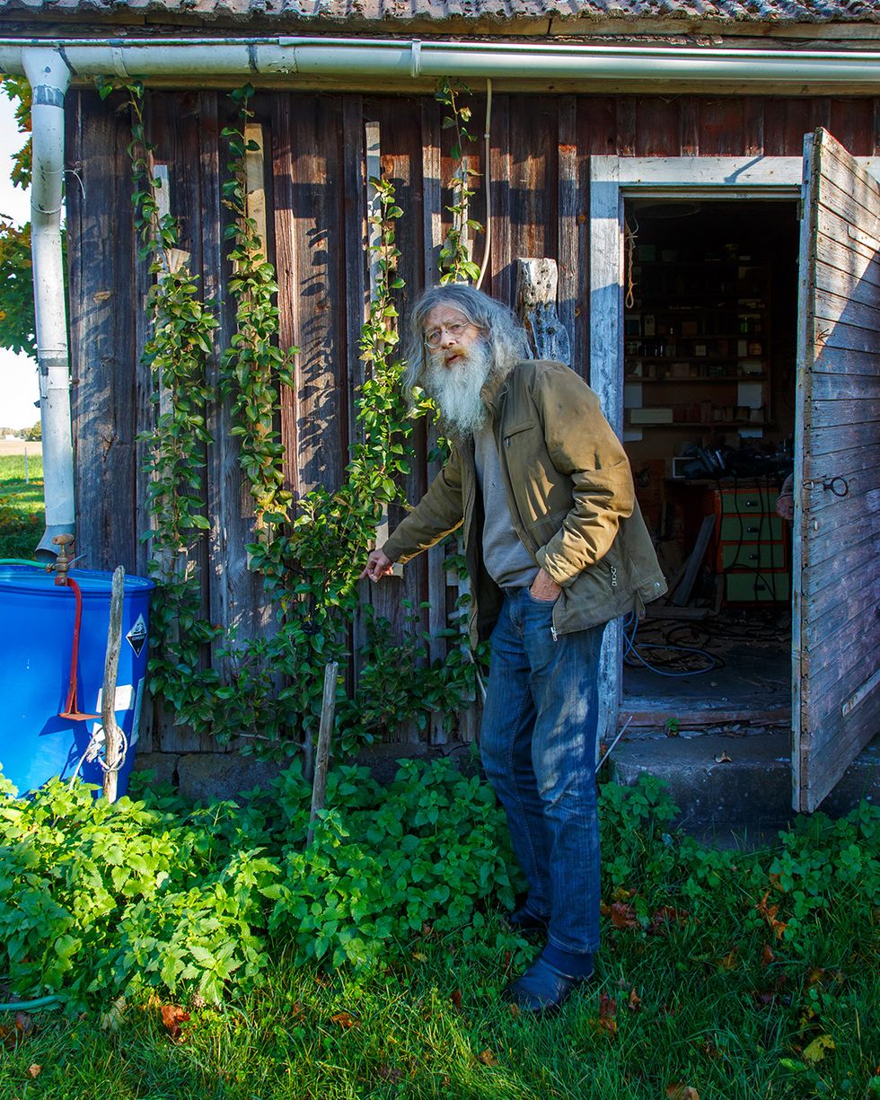
<path id="1" fill-rule="evenodd" d="M 21 73 L 29 46 L 57 48 L 77 77 L 438 76 L 584 81 L 831 85 L 880 89 L 880 53 L 535 42 L 449 42 L 317 36 L 217 38 L 0 38 L 0 72 Z"/>

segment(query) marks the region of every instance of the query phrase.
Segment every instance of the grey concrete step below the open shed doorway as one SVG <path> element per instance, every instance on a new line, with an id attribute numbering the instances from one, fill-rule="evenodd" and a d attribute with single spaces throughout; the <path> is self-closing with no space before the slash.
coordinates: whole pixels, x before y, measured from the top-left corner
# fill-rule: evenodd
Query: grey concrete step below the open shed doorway
<path id="1" fill-rule="evenodd" d="M 636 737 L 617 745 L 612 763 L 620 783 L 632 784 L 642 772 L 662 779 L 681 811 L 676 824 L 689 832 L 769 835 L 795 816 L 788 732 Z M 820 810 L 842 817 L 860 799 L 880 801 L 880 737 L 850 765 Z"/>

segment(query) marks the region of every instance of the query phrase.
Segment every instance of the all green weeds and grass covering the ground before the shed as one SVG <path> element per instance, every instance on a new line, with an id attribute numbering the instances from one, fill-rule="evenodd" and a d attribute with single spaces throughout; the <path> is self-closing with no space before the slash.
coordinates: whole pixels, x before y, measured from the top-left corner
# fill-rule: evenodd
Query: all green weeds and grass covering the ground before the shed
<path id="1" fill-rule="evenodd" d="M 878 1096 L 877 807 L 718 851 L 671 831 L 657 781 L 604 784 L 597 979 L 534 1021 L 502 998 L 538 948 L 502 920 L 519 883 L 485 784 L 340 768 L 328 805 L 307 851 L 295 769 L 240 805 L 8 800 L 6 994 L 68 1012 L 0 1014 L 0 1097 Z"/>

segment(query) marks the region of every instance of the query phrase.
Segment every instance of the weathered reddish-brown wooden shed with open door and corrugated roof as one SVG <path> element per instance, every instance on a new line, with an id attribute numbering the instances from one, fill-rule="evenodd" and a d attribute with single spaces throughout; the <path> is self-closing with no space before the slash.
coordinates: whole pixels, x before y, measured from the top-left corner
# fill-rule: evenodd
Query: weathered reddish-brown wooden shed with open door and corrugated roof
<path id="1" fill-rule="evenodd" d="M 136 439 L 151 388 L 129 123 L 94 75 L 146 73 L 148 139 L 227 333 L 220 132 L 228 90 L 243 79 L 256 88 L 280 342 L 299 348 L 280 425 L 295 494 L 333 487 L 346 461 L 377 167 L 405 211 L 404 310 L 437 282 L 454 164 L 433 91 L 438 76 L 461 77 L 473 129 L 488 135 L 488 156 L 482 142 L 470 154 L 481 179 L 472 217 L 491 226 L 483 287 L 514 305 L 517 260 L 556 263 L 571 364 L 625 440 L 675 581 L 666 632 L 652 618 L 652 634 L 619 623 L 606 634 L 603 736 L 627 721 L 790 724 L 794 805 L 820 803 L 880 713 L 873 4 L 0 0 L 0 23 L 4 57 L 38 40 L 73 73 L 70 371 L 78 547 L 90 566 L 146 569 Z M 201 67 L 233 46 L 250 58 L 243 75 Z M 148 63 L 163 48 L 166 59 Z M 358 48 L 393 61 L 383 68 Z M 314 61 L 331 51 L 333 64 Z M 479 261 L 482 240 L 474 249 Z M 221 405 L 213 415 L 208 601 L 246 636 L 267 610 L 246 568 L 237 444 Z M 430 473 L 424 427 L 417 443 L 410 498 Z M 789 473 L 791 524 L 777 514 Z M 398 626 L 402 596 L 429 602 L 436 632 L 448 583 L 432 552 L 369 598 Z M 724 639 L 728 667 L 664 675 L 670 653 L 703 648 L 703 629 Z M 212 747 L 160 725 L 142 738 L 168 751 Z"/>

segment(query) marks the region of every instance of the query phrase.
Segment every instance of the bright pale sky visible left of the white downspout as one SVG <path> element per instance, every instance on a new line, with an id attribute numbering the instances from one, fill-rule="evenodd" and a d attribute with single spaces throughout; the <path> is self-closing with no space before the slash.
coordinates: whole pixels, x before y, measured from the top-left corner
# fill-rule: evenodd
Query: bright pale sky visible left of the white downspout
<path id="1" fill-rule="evenodd" d="M 19 226 L 31 220 L 31 198 L 29 191 L 12 186 L 9 174 L 12 156 L 23 144 L 12 103 L 0 92 L 0 213 Z M 40 419 L 40 409 L 34 408 L 38 399 L 36 363 L 0 348 L 0 427 L 30 428 Z"/>

